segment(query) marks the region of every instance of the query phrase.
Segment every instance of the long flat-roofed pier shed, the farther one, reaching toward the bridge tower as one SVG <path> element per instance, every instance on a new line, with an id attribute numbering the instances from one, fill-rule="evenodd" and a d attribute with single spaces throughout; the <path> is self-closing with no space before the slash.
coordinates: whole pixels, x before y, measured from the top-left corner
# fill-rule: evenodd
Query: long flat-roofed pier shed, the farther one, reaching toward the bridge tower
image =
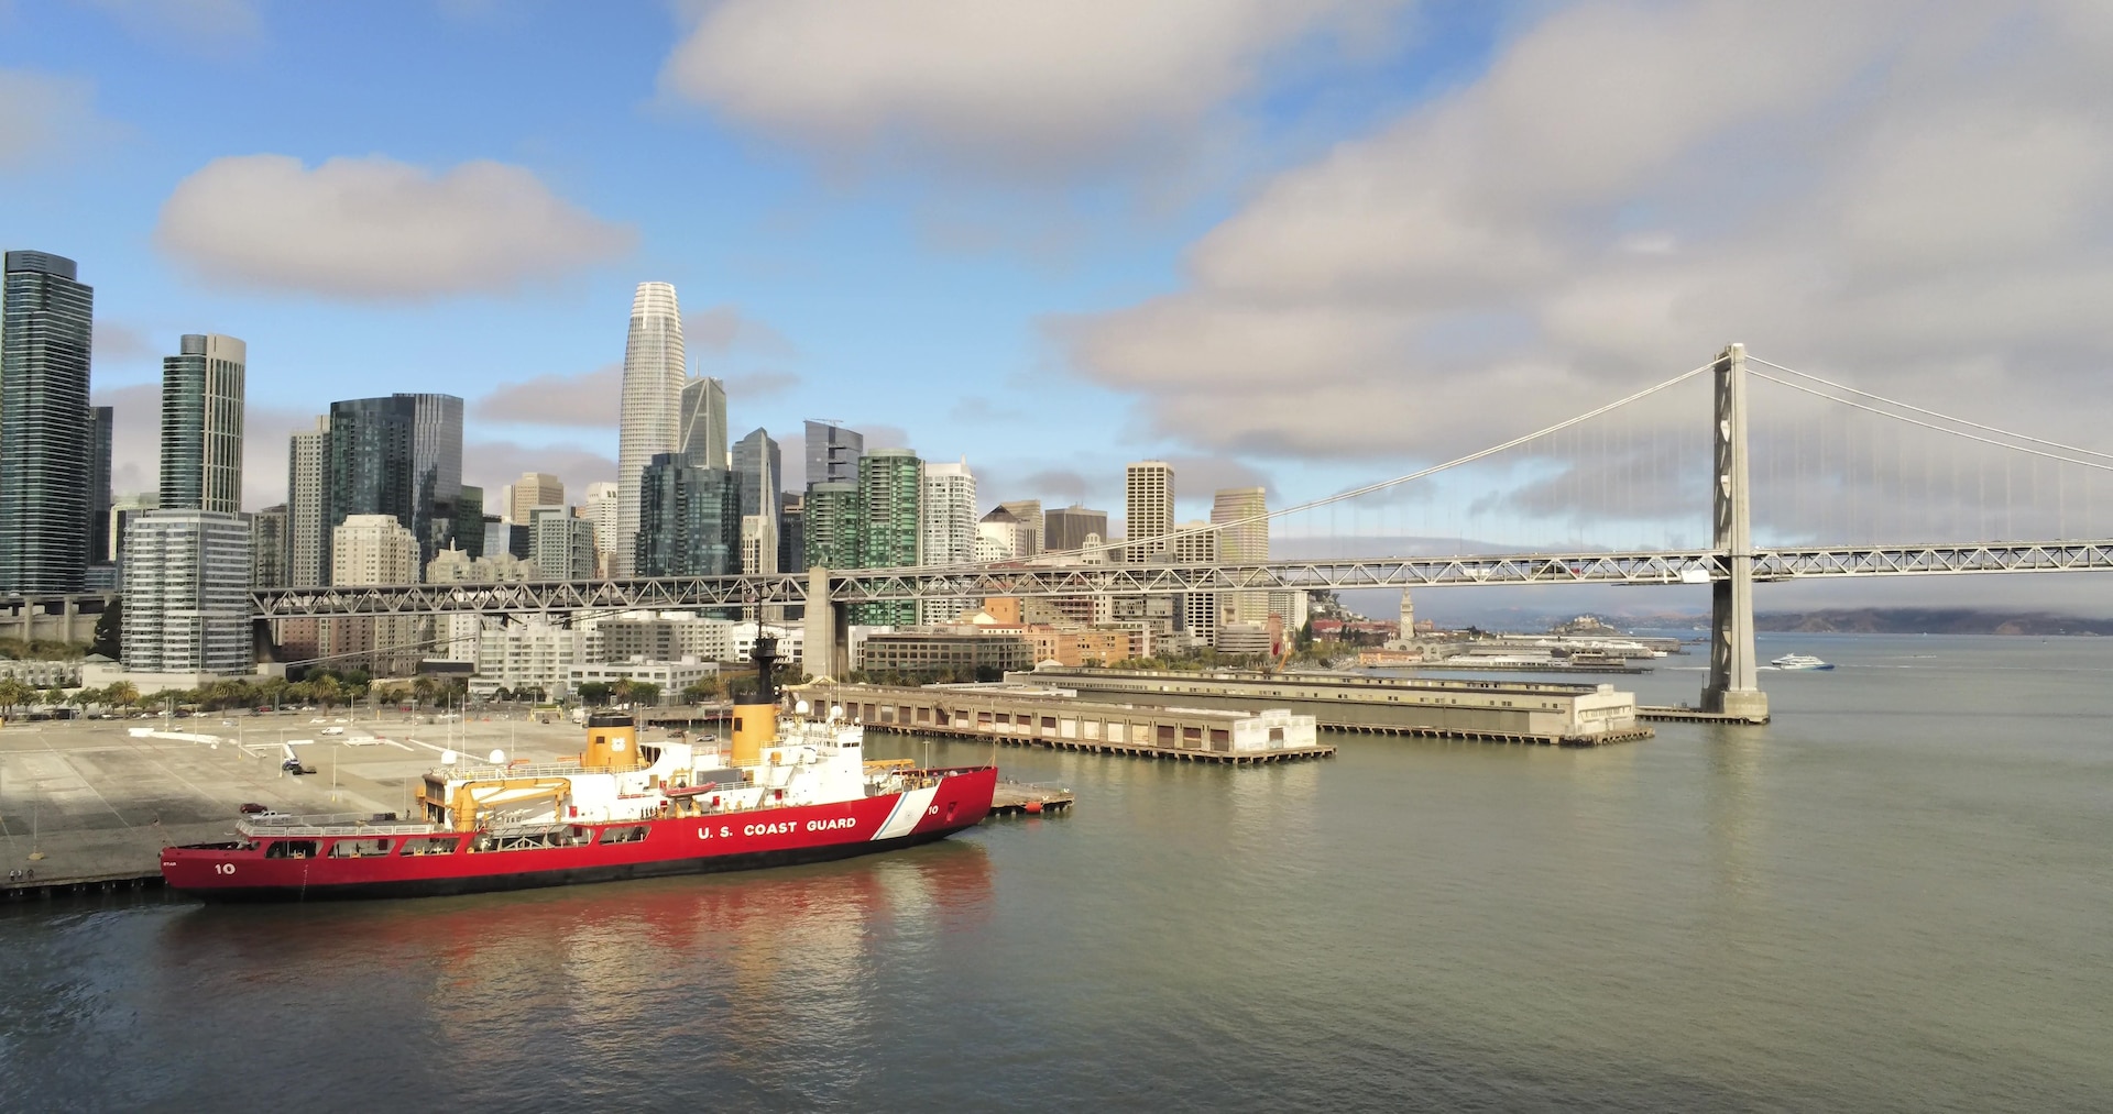
<path id="1" fill-rule="evenodd" d="M 1650 738 L 1635 694 L 1610 684 L 1488 681 L 1314 673 L 1037 669 L 1008 681 L 1143 707 L 1291 709 L 1359 734 L 1600 747 Z"/>

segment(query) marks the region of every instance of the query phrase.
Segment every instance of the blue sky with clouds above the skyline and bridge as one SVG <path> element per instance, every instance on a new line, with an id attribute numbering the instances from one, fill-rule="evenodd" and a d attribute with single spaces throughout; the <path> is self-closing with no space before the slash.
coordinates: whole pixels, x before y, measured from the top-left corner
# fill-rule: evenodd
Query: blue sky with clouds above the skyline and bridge
<path id="1" fill-rule="evenodd" d="M 1728 340 L 2083 445 L 2113 403 L 2090 0 L 0 0 L 0 238 L 97 289 L 120 489 L 184 331 L 249 342 L 251 504 L 289 428 L 389 390 L 469 399 L 469 481 L 609 479 L 649 278 L 735 435 L 839 418 L 966 456 L 987 504 L 1120 513 L 1156 456 L 1183 515 L 1280 506 Z M 1783 460 L 1802 403 L 1771 405 Z M 1365 530 L 1699 536 L 1551 511 L 1578 452 Z M 1817 536 L 1904 487 L 1781 489 L 1773 530 Z"/>

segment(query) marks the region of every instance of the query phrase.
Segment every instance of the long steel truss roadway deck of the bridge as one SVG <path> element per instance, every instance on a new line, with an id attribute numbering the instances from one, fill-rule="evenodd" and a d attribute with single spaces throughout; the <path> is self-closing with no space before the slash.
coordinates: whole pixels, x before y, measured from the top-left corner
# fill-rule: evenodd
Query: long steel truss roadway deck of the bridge
<path id="1" fill-rule="evenodd" d="M 2113 540 L 1756 546 L 1754 580 L 1847 576 L 1952 576 L 1984 572 L 2109 572 Z M 983 599 L 993 595 L 1175 595 L 1209 591 L 1418 589 L 1439 584 L 1709 584 L 1731 576 L 1714 549 L 1640 553 L 1490 553 L 1344 561 L 1145 563 L 1145 565 L 959 565 L 811 570 L 756 576 L 659 576 L 636 580 L 528 580 L 511 584 L 380 584 L 260 589 L 256 618 L 408 614 L 571 614 L 655 608 L 740 608 L 890 599 Z M 824 589 L 826 584 L 826 589 Z M 4 610 L 4 603 L 0 603 Z"/>

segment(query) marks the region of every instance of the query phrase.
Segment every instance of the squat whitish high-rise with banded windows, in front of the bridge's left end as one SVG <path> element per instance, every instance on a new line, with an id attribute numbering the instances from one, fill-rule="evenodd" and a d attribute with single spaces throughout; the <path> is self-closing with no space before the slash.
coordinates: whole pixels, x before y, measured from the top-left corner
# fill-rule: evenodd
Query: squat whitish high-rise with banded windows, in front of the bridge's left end
<path id="1" fill-rule="evenodd" d="M 133 673 L 249 673 L 249 523 L 220 511 L 148 511 L 125 532 Z"/>

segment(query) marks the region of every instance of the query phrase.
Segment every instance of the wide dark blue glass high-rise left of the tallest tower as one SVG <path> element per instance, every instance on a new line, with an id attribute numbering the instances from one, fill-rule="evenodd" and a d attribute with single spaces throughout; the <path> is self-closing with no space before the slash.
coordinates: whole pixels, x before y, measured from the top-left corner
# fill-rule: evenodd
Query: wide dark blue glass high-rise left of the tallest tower
<path id="1" fill-rule="evenodd" d="M 463 500 L 463 399 L 454 395 L 330 403 L 323 475 L 332 525 L 393 515 L 418 538 L 420 568 L 454 546 L 459 530 L 482 532 L 484 508 Z"/>

